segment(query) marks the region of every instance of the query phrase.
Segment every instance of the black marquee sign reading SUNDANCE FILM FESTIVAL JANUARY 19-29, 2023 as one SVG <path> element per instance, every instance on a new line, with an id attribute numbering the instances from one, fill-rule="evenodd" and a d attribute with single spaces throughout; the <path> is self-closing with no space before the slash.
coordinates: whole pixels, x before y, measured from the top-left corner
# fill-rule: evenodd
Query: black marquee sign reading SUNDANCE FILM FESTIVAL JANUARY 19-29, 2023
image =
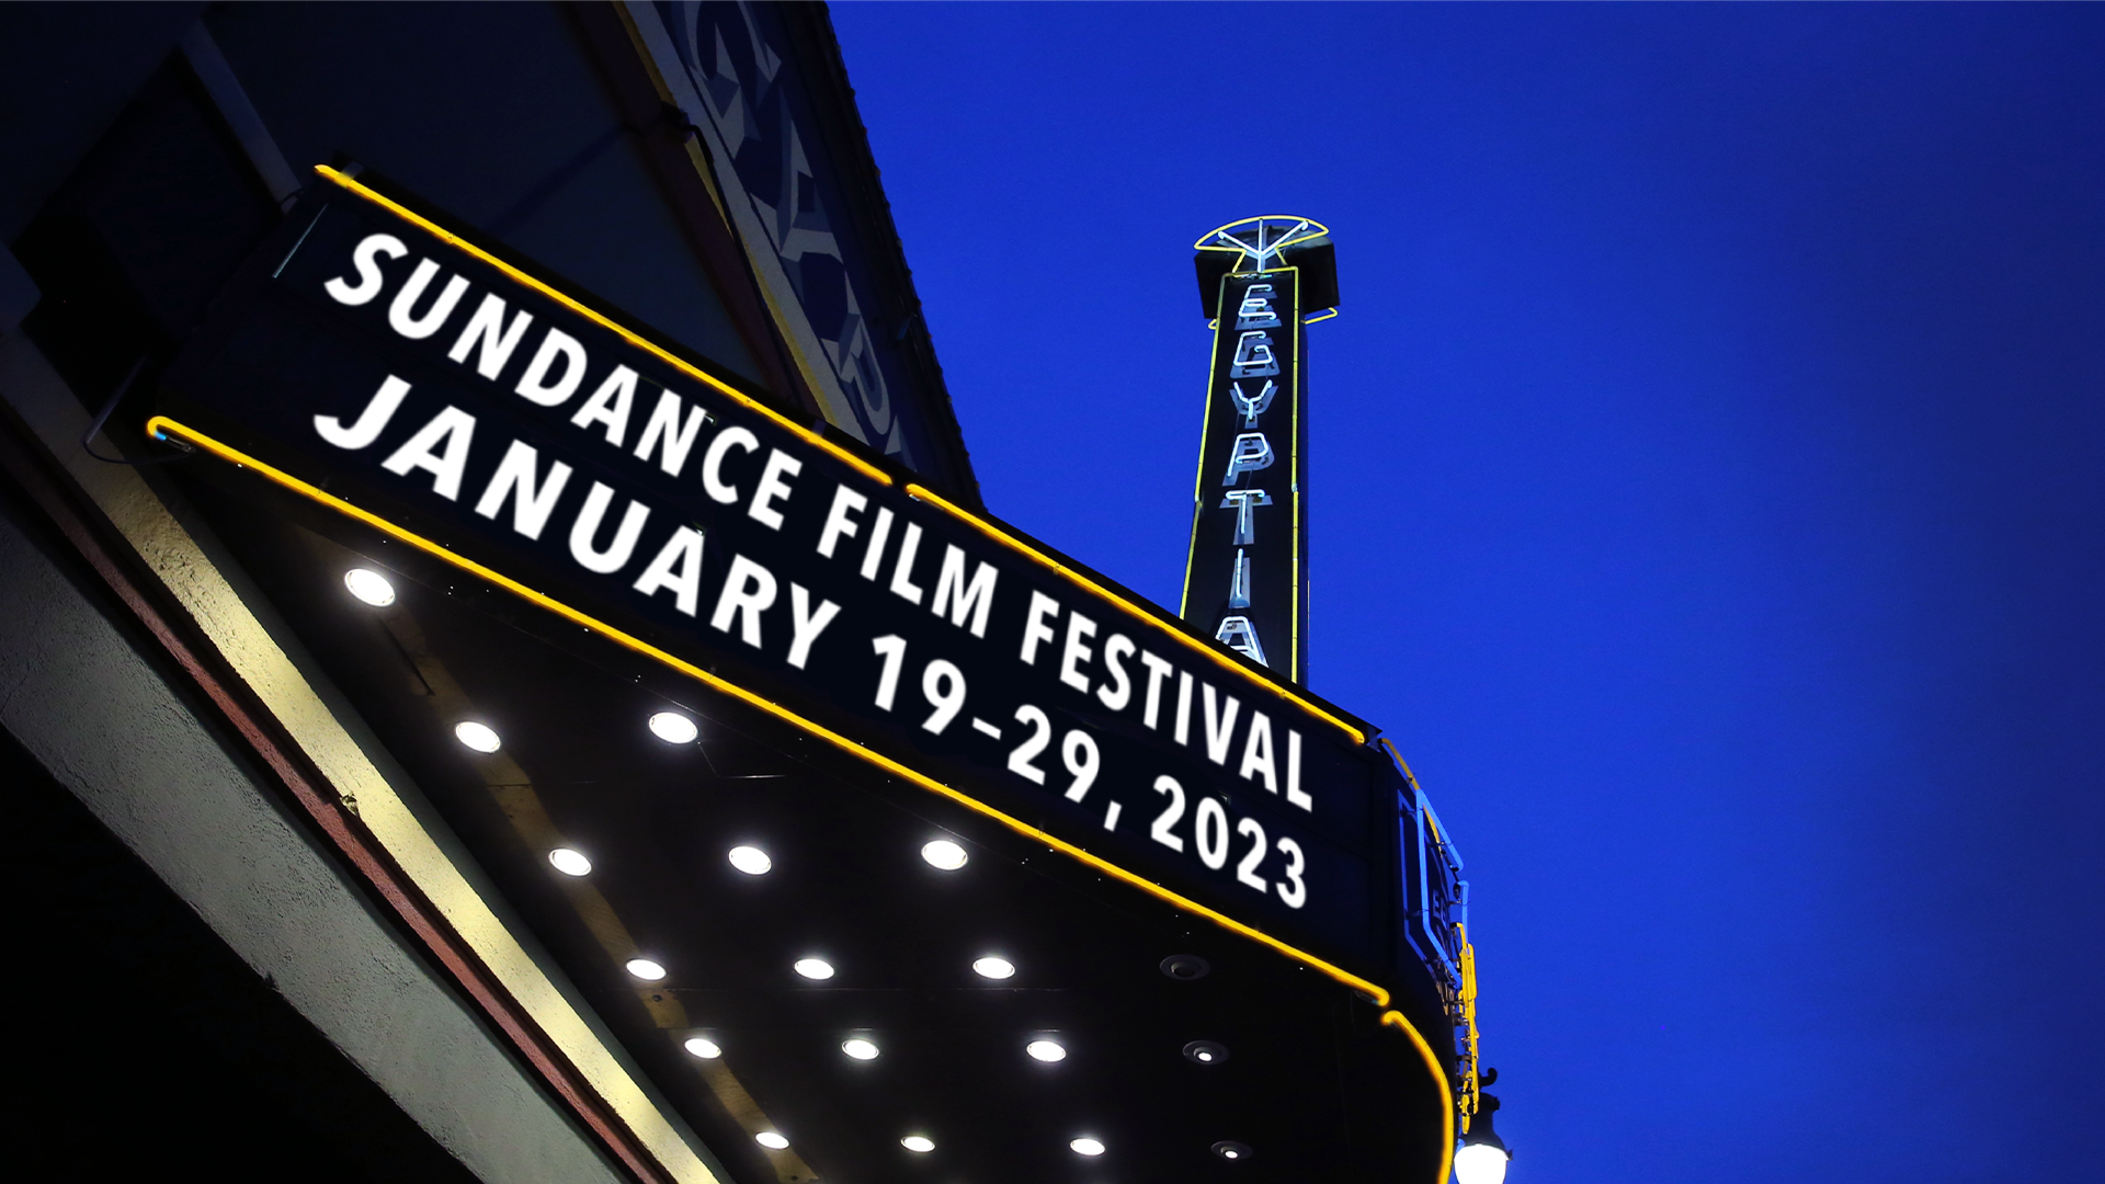
<path id="1" fill-rule="evenodd" d="M 1394 803 L 1358 725 L 322 177 L 154 432 L 1385 1001 L 1337 965 L 1377 973 L 1394 931 Z M 1257 493 L 1238 512 L 1265 531 Z"/>

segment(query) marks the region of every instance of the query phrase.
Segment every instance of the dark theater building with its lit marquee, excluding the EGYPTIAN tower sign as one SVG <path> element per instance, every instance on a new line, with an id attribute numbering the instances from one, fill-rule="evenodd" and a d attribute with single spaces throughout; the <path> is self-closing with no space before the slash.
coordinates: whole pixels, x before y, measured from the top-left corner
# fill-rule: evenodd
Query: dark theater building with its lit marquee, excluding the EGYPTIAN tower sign
<path id="1" fill-rule="evenodd" d="M 821 4 L 0 23 L 32 1146 L 1444 1178 L 1450 843 L 981 506 Z"/>

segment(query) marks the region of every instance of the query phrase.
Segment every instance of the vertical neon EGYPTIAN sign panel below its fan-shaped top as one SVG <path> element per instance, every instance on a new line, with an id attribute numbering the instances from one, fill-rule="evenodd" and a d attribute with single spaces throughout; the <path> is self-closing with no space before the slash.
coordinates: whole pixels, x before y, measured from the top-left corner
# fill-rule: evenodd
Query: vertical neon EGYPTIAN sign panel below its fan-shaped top
<path id="1" fill-rule="evenodd" d="M 1301 270 L 1221 276 L 1183 619 L 1307 678 Z"/>

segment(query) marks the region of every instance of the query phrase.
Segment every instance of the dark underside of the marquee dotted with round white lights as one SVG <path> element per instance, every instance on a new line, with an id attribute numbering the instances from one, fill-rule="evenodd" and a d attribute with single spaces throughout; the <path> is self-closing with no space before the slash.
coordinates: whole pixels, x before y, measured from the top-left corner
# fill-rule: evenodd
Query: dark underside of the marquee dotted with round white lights
<path id="1" fill-rule="evenodd" d="M 1444 1098 L 1381 1009 L 1337 982 L 552 628 L 377 531 L 297 522 L 240 482 L 185 485 L 528 940 L 733 1180 L 1438 1169 Z M 383 573 L 396 600 L 356 600 L 354 567 Z M 699 735 L 657 737 L 659 712 Z M 463 721 L 501 748 L 463 746 Z M 930 866 L 922 847 L 937 838 L 966 864 Z M 737 870 L 735 847 L 764 851 L 768 870 Z M 554 849 L 587 855 L 592 872 L 562 874 Z M 1015 975 L 983 978 L 983 956 Z M 1200 959 L 1204 978 L 1172 978 L 1177 956 Z M 632 959 L 665 978 L 640 982 Z M 834 978 L 802 978 L 800 959 Z M 720 1055 L 693 1055 L 695 1039 Z M 857 1039 L 878 1055 L 848 1055 Z M 1034 1041 L 1065 1058 L 1036 1060 Z M 1187 1055 L 1194 1041 L 1215 1047 Z M 756 1142 L 770 1131 L 789 1146 Z M 907 1150 L 907 1136 L 935 1150 Z M 1074 1152 L 1078 1138 L 1105 1155 Z M 1223 1142 L 1248 1150 L 1225 1159 Z"/>

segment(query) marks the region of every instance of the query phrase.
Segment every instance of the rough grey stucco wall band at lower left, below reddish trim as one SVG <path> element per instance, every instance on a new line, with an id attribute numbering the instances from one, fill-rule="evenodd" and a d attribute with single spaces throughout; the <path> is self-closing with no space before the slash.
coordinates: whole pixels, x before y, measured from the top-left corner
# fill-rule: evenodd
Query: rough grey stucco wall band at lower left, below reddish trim
<path id="1" fill-rule="evenodd" d="M 0 725 L 476 1176 L 623 1178 L 6 518 Z"/>

